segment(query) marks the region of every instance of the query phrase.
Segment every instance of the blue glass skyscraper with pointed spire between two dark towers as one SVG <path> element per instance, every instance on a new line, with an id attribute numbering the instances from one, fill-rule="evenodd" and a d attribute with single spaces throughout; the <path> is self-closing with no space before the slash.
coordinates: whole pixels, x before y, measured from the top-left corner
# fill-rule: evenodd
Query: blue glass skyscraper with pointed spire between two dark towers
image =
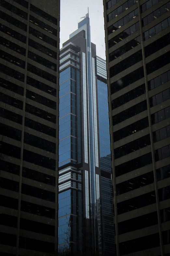
<path id="1" fill-rule="evenodd" d="M 115 251 L 106 78 L 86 14 L 60 50 L 60 255 Z"/>

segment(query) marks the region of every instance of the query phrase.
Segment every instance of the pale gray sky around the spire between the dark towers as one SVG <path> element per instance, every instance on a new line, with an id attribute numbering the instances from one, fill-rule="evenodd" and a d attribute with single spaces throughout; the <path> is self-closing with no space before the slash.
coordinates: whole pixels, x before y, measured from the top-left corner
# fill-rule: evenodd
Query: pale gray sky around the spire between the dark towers
<path id="1" fill-rule="evenodd" d="M 91 41 L 96 44 L 97 56 L 106 60 L 103 0 L 61 0 L 60 48 L 69 35 L 78 29 L 78 22 L 88 12 L 91 26 Z"/>

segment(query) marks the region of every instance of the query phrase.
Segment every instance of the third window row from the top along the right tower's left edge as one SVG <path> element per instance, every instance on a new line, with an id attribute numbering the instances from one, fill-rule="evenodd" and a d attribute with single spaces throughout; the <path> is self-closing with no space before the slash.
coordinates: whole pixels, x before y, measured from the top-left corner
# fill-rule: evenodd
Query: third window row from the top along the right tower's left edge
<path id="1" fill-rule="evenodd" d="M 124 16 L 122 19 L 117 21 L 116 23 L 112 24 L 107 28 L 107 33 L 110 35 L 112 32 L 116 31 L 123 25 L 127 24 L 129 21 L 135 19 L 138 16 L 138 8 L 135 9 L 134 11 L 130 12 L 126 16 Z"/>

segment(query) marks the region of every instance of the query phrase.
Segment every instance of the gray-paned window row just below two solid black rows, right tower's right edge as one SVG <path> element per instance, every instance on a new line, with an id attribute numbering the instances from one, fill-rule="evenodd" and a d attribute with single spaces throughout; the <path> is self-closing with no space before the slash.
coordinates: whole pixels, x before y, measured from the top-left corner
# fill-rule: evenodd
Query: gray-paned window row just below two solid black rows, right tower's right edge
<path id="1" fill-rule="evenodd" d="M 155 77 L 154 79 L 148 81 L 148 89 L 153 90 L 154 88 L 170 81 L 170 70 L 161 74 L 158 77 Z"/>

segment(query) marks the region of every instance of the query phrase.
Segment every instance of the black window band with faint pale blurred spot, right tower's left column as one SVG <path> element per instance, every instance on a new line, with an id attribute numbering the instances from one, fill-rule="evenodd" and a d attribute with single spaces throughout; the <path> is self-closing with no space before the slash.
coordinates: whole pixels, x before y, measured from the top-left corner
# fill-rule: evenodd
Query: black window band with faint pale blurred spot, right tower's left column
<path id="1" fill-rule="evenodd" d="M 143 66 L 141 68 L 138 68 L 135 71 L 131 72 L 130 74 L 128 74 L 124 77 L 121 77 L 117 81 L 111 83 L 110 84 L 111 94 L 118 92 L 119 90 L 136 82 L 137 80 L 141 79 L 142 77 L 144 77 Z"/>

